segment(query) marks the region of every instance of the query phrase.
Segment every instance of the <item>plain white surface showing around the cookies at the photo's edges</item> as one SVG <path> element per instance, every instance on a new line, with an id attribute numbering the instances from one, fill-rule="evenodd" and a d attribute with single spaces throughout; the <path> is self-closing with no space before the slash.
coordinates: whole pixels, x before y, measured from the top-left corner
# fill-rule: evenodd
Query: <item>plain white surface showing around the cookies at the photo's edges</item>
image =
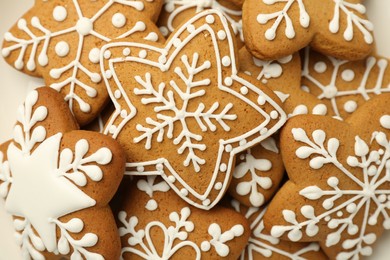
<path id="1" fill-rule="evenodd" d="M 0 35 L 32 5 L 33 0 L 0 0 Z M 368 15 L 375 24 L 375 37 L 378 54 L 390 58 L 390 1 L 366 1 Z M 2 41 L 1 37 L 1 41 Z M 0 58 L 0 143 L 11 136 L 17 106 L 24 100 L 27 92 L 41 81 L 22 75 Z M 385 233 L 374 249 L 370 260 L 390 259 L 390 231 Z M 4 201 L 0 199 L 0 260 L 21 259 L 14 243 L 11 217 L 4 211 Z"/>

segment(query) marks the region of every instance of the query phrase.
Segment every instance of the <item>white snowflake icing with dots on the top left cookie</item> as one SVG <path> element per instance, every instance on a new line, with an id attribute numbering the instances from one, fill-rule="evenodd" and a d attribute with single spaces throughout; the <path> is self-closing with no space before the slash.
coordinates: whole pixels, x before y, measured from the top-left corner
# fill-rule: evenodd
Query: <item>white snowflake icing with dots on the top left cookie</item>
<path id="1" fill-rule="evenodd" d="M 82 15 L 83 10 L 82 6 L 79 4 L 79 1 L 74 0 L 70 2 L 71 3 L 69 3 L 69 6 L 67 5 L 66 8 L 65 6 L 56 6 L 53 9 L 52 16 L 53 19 L 59 23 L 63 23 L 64 21 L 70 22 L 66 20 L 68 16 L 67 9 L 70 10 L 70 8 L 74 8 L 75 13 L 77 13 L 79 17 L 78 20 L 72 21 L 74 24 L 70 24 L 69 27 L 61 26 L 62 29 L 58 31 L 52 31 L 52 29 L 57 29 L 58 26 L 56 25 L 53 28 L 46 28 L 41 24 L 41 19 L 43 18 L 33 16 L 31 18 L 31 24 L 27 24 L 25 19 L 20 19 L 18 21 L 18 29 L 25 35 L 28 35 L 29 38 L 22 39 L 14 36 L 10 32 L 5 33 L 5 41 L 12 43 L 12 45 L 3 48 L 2 55 L 4 57 L 8 57 L 11 53 L 18 52 L 18 57 L 14 63 L 15 68 L 21 70 L 24 66 L 26 66 L 27 70 L 34 71 L 36 69 L 36 61 L 38 61 L 40 66 L 47 66 L 49 64 L 49 57 L 47 55 L 49 48 L 54 49 L 60 57 L 66 56 L 65 53 L 68 48 L 63 48 L 65 46 L 64 44 L 62 44 L 62 47 L 52 46 L 51 42 L 53 39 L 61 38 L 63 35 L 71 33 L 78 33 L 77 46 L 72 46 L 72 49 L 75 49 L 75 57 L 67 57 L 69 59 L 69 63 L 61 68 L 52 67 L 52 65 L 50 65 L 51 67 L 49 76 L 56 80 L 55 83 L 53 83 L 50 87 L 57 91 L 66 91 L 66 93 L 64 93 L 65 100 L 69 103 L 69 107 L 72 111 L 74 109 L 74 103 L 77 103 L 81 112 L 89 113 L 91 111 L 91 105 L 87 103 L 87 100 L 83 98 L 83 95 L 79 95 L 76 93 L 76 91 L 79 90 L 80 92 L 84 92 L 89 98 L 96 97 L 97 91 L 95 89 L 96 86 L 94 83 L 99 83 L 101 81 L 101 76 L 100 70 L 97 66 L 91 69 L 91 66 L 88 66 L 87 68 L 84 66 L 84 64 L 82 64 L 81 57 L 85 52 L 89 53 L 89 60 L 92 63 L 99 63 L 99 60 L 96 58 L 96 55 L 98 54 L 96 54 L 96 52 L 92 52 L 92 50 L 85 49 L 84 38 L 85 36 L 93 35 L 100 42 L 105 43 L 111 41 L 114 38 L 124 38 L 134 33 L 145 31 L 146 25 L 141 21 L 138 21 L 135 25 L 126 24 L 123 26 L 126 27 L 126 32 L 119 36 L 113 35 L 115 32 L 111 31 L 109 32 L 109 35 L 102 35 L 94 30 L 94 23 L 102 16 L 104 16 L 104 14 L 110 10 L 112 6 L 120 4 L 123 7 L 130 8 L 133 12 L 142 11 L 144 9 L 144 3 L 142 1 L 110 0 L 107 1 L 107 3 L 104 4 L 101 8 L 97 8 L 92 18 L 86 18 Z M 99 1 L 93 5 L 95 4 L 98 6 L 101 5 Z M 123 19 L 115 19 L 115 23 L 118 24 L 121 22 L 121 20 Z M 30 27 L 34 30 L 31 30 Z M 39 31 L 38 35 L 35 34 L 36 31 Z M 150 33 L 148 37 L 151 38 L 151 40 L 155 40 L 155 35 L 152 33 Z M 69 42 L 66 44 L 69 45 Z M 31 51 L 28 52 L 27 50 Z M 28 59 L 26 64 L 23 62 L 24 59 Z M 80 75 L 86 75 L 90 81 L 88 79 L 81 81 L 82 77 L 80 77 Z"/>

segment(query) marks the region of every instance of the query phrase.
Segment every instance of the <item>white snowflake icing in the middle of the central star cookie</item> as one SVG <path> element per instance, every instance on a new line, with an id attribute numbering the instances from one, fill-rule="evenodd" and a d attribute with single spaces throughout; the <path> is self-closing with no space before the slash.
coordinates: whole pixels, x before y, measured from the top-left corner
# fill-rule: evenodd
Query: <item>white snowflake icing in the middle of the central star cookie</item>
<path id="1" fill-rule="evenodd" d="M 158 106 L 155 107 L 156 112 L 170 111 L 173 112 L 174 116 L 164 115 L 162 113 L 157 114 L 157 118 L 160 121 L 155 121 L 151 118 L 146 119 L 151 127 L 145 127 L 143 125 L 138 125 L 137 130 L 142 134 L 134 139 L 135 143 L 139 143 L 145 140 L 145 148 L 151 149 L 152 147 L 152 138 L 157 134 L 157 142 L 162 142 L 164 140 L 164 134 L 169 139 L 173 139 L 175 145 L 181 144 L 177 149 L 179 154 L 183 154 L 187 151 L 187 157 L 183 162 L 184 166 L 189 166 L 192 164 L 196 172 L 200 171 L 201 164 L 205 164 L 205 160 L 196 155 L 196 151 L 204 151 L 206 145 L 202 143 L 196 143 L 194 141 L 202 141 L 203 137 L 194 132 L 191 132 L 189 125 L 187 124 L 188 118 L 194 118 L 198 123 L 198 126 L 202 129 L 203 132 L 207 130 L 215 131 L 217 126 L 212 122 L 215 121 L 218 123 L 225 131 L 229 131 L 230 127 L 225 121 L 233 121 L 237 118 L 235 114 L 228 114 L 229 110 L 233 107 L 233 104 L 227 104 L 222 112 L 215 113 L 219 108 L 219 103 L 215 102 L 208 110 L 203 103 L 200 103 L 195 112 L 188 112 L 187 108 L 192 99 L 202 97 L 205 95 L 205 90 L 198 90 L 192 92 L 193 89 L 201 86 L 208 86 L 210 84 L 209 79 L 203 79 L 199 81 L 194 81 L 194 77 L 207 69 L 210 68 L 210 61 L 205 61 L 203 64 L 198 66 L 199 54 L 194 53 L 192 61 L 186 55 L 181 57 L 181 61 L 186 68 L 185 75 L 180 67 L 175 68 L 175 73 L 181 78 L 181 80 L 186 85 L 186 90 L 182 91 L 178 84 L 172 80 L 169 82 L 171 87 L 175 90 L 176 94 L 183 100 L 181 107 L 177 107 L 175 102 L 175 96 L 173 91 L 167 92 L 167 97 L 164 96 L 165 84 L 160 83 L 158 87 L 153 86 L 152 76 L 150 73 L 145 74 L 145 80 L 141 77 L 136 76 L 136 81 L 143 87 L 143 89 L 134 89 L 135 95 L 152 95 L 150 98 L 143 98 L 142 103 L 144 105 L 157 103 Z M 191 63 L 191 64 L 190 64 Z M 177 136 L 173 136 L 174 124 L 180 122 L 181 132 Z M 166 129 L 167 128 L 167 129 Z"/>

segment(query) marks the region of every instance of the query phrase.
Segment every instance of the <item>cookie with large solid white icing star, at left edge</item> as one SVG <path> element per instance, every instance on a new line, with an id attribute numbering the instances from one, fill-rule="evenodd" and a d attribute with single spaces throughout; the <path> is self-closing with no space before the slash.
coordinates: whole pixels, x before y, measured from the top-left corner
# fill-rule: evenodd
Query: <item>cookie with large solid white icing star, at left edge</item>
<path id="1" fill-rule="evenodd" d="M 77 130 L 63 98 L 32 91 L 13 139 L 0 146 L 0 195 L 25 259 L 117 259 L 120 239 L 108 202 L 122 179 L 119 144 Z"/>

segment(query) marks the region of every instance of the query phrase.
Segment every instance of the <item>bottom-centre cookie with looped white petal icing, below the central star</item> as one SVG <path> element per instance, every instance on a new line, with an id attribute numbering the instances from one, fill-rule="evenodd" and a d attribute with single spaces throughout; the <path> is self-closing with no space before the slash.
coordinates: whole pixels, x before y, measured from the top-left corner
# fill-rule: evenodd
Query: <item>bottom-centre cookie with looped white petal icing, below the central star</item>
<path id="1" fill-rule="evenodd" d="M 248 242 L 245 217 L 220 206 L 190 206 L 159 176 L 134 178 L 123 195 L 122 259 L 237 259 Z"/>

